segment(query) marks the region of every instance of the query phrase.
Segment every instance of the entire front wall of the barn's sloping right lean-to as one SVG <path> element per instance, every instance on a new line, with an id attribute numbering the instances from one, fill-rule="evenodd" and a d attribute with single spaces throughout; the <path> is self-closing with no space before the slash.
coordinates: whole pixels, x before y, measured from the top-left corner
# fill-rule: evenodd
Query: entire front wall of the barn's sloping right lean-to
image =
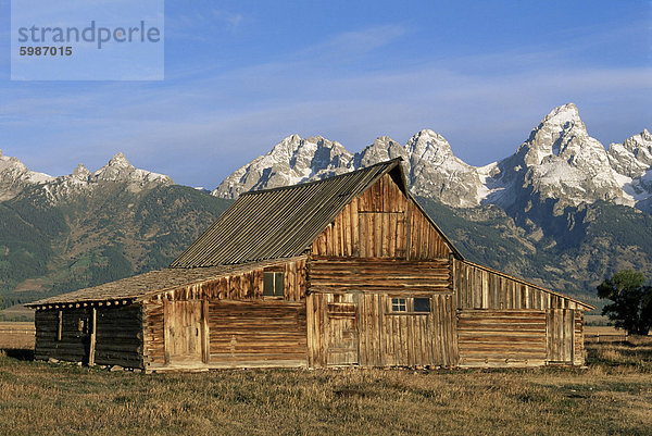
<path id="1" fill-rule="evenodd" d="M 461 365 L 485 352 L 493 366 L 584 364 L 585 306 L 467 261 L 453 260 L 453 283 Z"/>

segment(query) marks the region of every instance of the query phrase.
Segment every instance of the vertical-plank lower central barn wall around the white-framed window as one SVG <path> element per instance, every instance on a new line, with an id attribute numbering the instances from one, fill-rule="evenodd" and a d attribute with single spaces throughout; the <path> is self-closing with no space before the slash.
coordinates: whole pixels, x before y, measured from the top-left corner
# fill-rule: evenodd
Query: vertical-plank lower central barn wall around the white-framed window
<path id="1" fill-rule="evenodd" d="M 396 294 L 311 294 L 306 301 L 309 364 L 454 366 L 457 346 L 452 294 L 398 295 L 430 298 L 430 312 L 392 313 Z"/>

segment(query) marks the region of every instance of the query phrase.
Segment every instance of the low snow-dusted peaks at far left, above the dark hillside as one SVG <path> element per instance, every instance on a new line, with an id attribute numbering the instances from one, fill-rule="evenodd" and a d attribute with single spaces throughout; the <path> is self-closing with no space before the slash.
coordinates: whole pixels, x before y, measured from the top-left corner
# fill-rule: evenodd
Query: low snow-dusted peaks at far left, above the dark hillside
<path id="1" fill-rule="evenodd" d="M 29 171 L 16 158 L 4 157 L 0 152 L 0 201 L 14 198 L 28 187 L 42 189 L 50 201 L 58 201 L 109 182 L 124 184 L 125 189 L 131 192 L 174 184 L 166 175 L 136 169 L 120 152 L 93 173 L 80 163 L 72 174 L 60 177 Z"/>

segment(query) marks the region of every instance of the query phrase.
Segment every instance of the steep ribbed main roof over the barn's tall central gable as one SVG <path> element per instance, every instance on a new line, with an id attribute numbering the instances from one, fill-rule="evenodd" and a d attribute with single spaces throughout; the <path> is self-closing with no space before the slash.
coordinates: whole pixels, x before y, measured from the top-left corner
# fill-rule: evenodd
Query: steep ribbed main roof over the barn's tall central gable
<path id="1" fill-rule="evenodd" d="M 397 158 L 323 180 L 242 194 L 171 267 L 299 256 L 355 196 L 385 174 L 391 173 L 403 194 L 411 197 L 400 163 L 401 158 Z M 421 209 L 416 201 L 415 204 Z M 424 215 L 427 216 L 425 212 Z M 431 220 L 430 223 L 437 227 Z M 461 259 L 450 240 L 437 229 Z"/>

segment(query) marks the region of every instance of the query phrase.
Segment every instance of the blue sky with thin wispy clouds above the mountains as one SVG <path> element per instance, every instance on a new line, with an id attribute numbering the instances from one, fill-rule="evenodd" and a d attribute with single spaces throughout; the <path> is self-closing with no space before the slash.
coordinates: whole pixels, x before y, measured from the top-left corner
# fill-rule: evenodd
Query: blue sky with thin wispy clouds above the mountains
<path id="1" fill-rule="evenodd" d="M 214 188 L 290 134 L 423 128 L 481 165 L 567 102 L 605 146 L 652 128 L 652 1 L 168 0 L 162 82 L 11 82 L 10 10 L 0 149 L 52 175 L 123 151 Z"/>

